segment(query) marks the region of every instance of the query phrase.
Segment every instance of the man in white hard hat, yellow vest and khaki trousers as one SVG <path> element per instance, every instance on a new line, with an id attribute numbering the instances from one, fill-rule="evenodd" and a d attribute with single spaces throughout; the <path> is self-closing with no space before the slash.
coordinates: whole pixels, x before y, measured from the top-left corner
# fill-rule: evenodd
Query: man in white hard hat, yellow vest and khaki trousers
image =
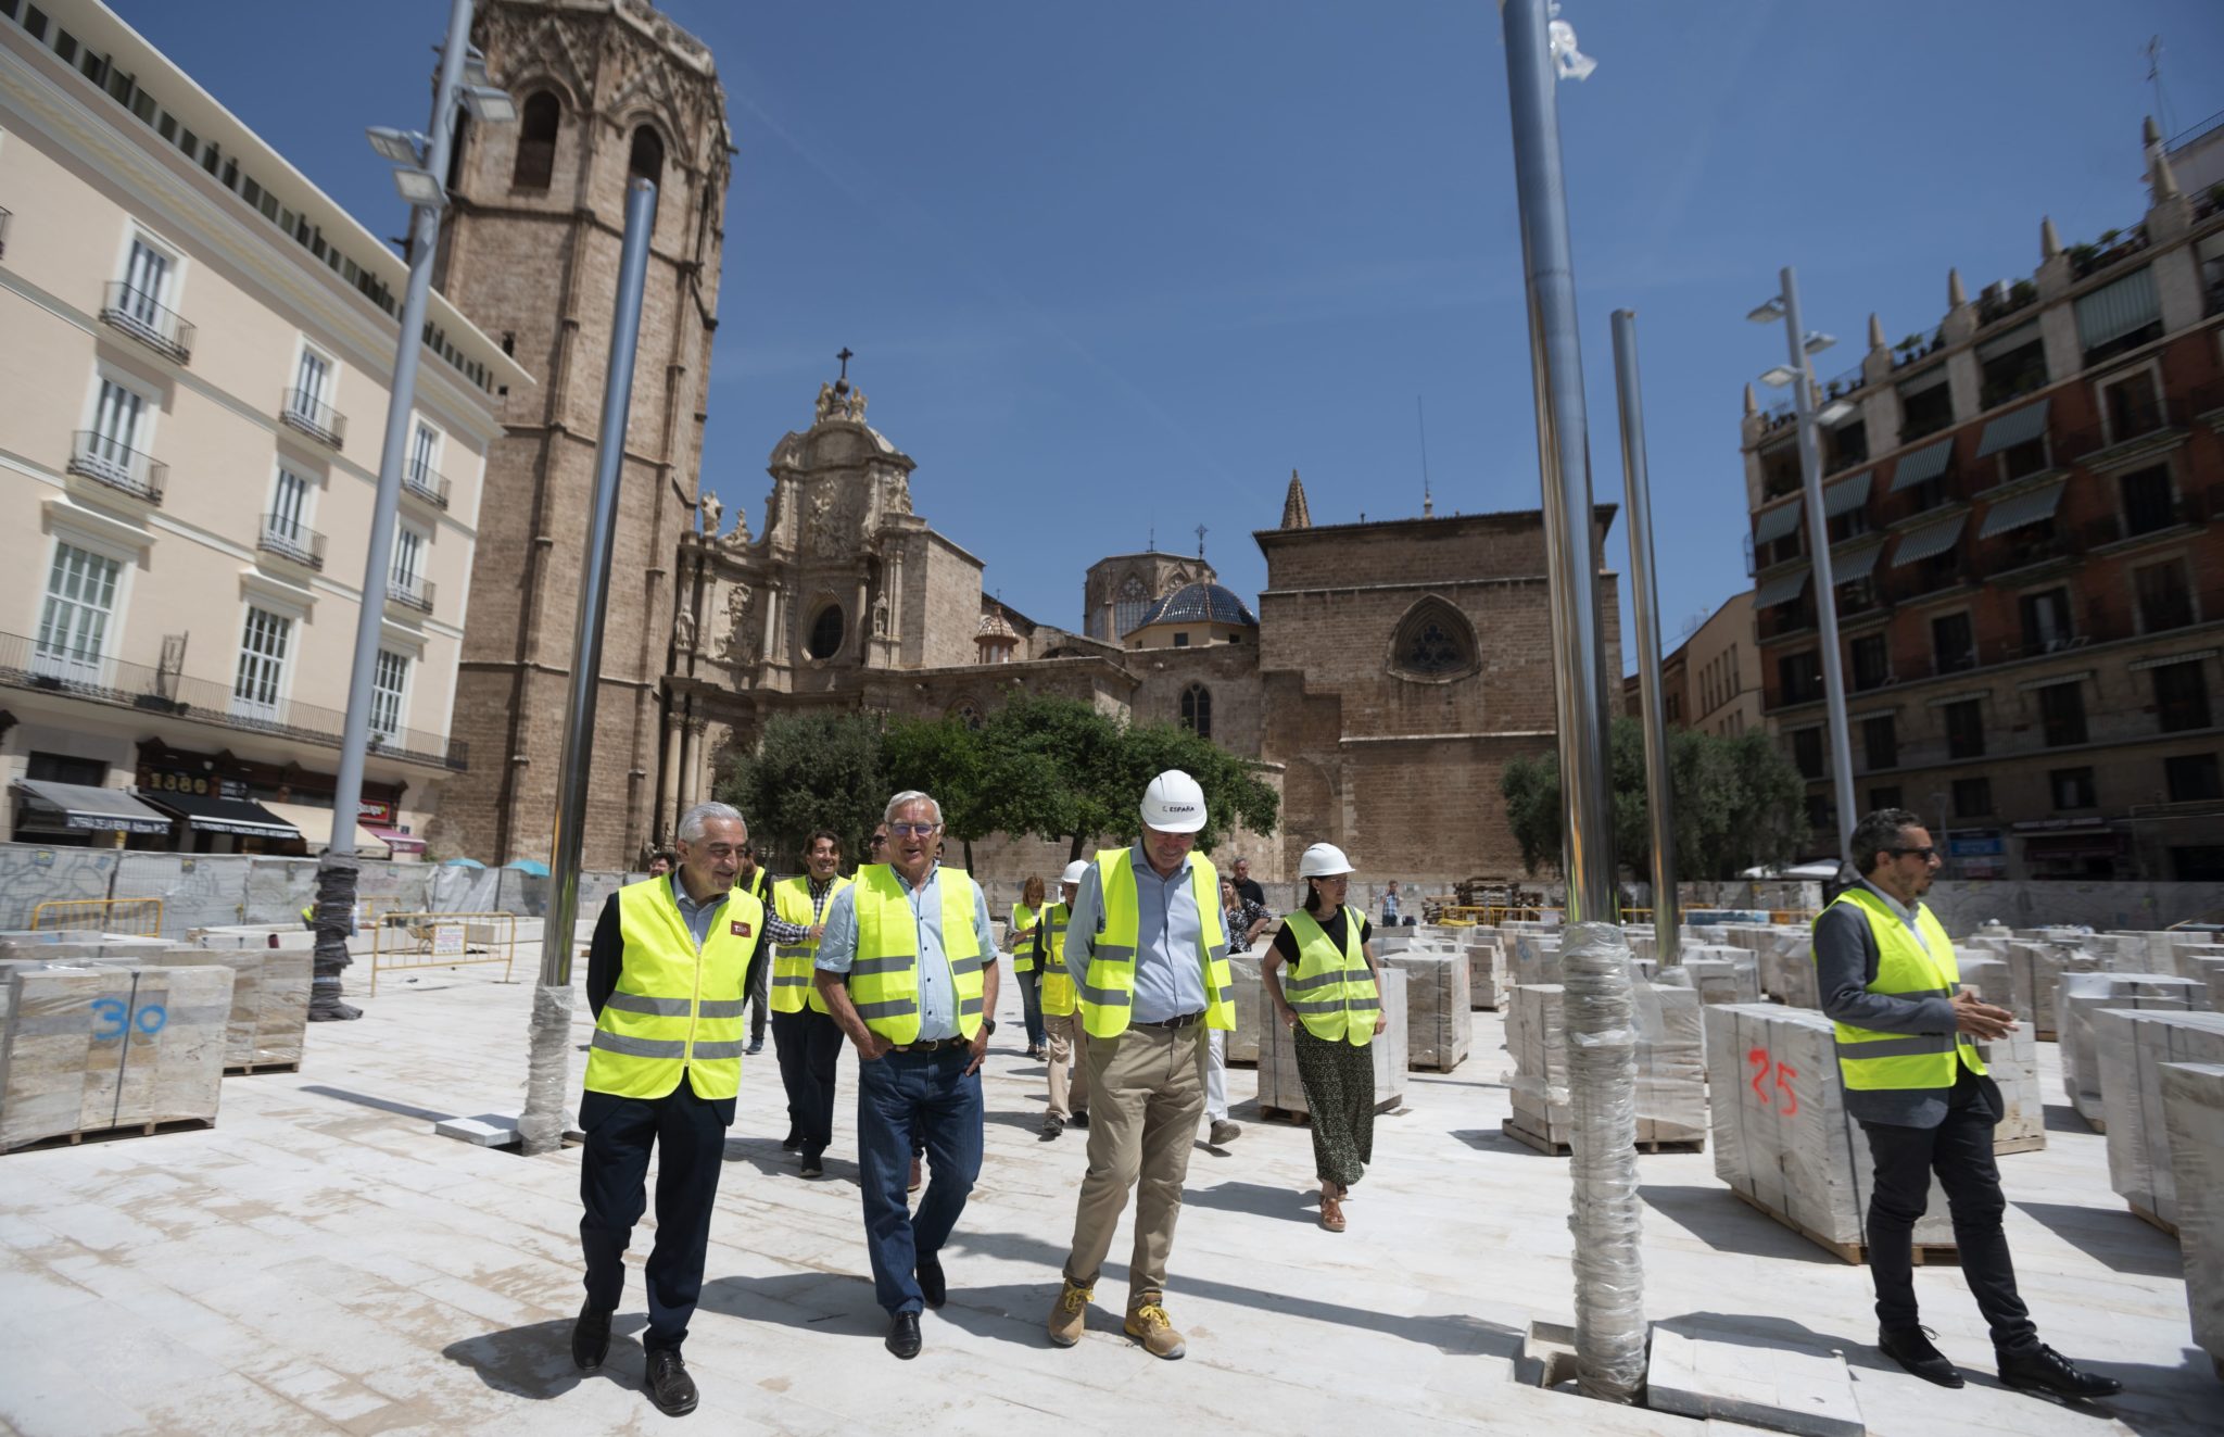
<path id="1" fill-rule="evenodd" d="M 1090 1170 L 1048 1326 L 1054 1346 L 1081 1341 L 1112 1230 L 1136 1188 L 1121 1330 L 1172 1359 L 1188 1344 L 1165 1312 L 1165 1261 L 1205 1110 L 1205 1032 L 1232 1030 L 1237 1010 L 1221 881 L 1190 852 L 1205 825 L 1205 792 L 1168 770 L 1143 790 L 1141 819 L 1141 841 L 1099 852 L 1083 872 L 1065 925 L 1065 972 L 1088 1032 Z"/>

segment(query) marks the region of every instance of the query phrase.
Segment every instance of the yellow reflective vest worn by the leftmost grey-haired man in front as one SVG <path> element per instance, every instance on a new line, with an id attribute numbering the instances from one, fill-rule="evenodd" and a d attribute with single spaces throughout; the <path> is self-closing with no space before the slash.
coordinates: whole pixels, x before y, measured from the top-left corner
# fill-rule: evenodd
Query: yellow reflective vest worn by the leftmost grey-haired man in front
<path id="1" fill-rule="evenodd" d="M 734 1097 L 747 1048 L 741 1028 L 743 983 L 763 930 L 763 905 L 752 894 L 732 890 L 712 919 L 709 939 L 696 952 L 669 879 L 620 888 L 623 957 L 618 983 L 594 1021 L 587 1090 L 665 1097 L 685 1072 L 696 1097 Z"/>

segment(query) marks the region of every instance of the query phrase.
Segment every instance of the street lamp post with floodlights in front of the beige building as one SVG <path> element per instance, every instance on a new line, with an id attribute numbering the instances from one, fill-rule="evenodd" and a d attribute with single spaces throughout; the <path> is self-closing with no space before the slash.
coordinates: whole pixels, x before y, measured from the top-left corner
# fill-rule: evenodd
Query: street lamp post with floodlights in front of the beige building
<path id="1" fill-rule="evenodd" d="M 471 49 L 471 0 L 454 0 L 447 42 L 440 47 L 440 80 L 434 87 L 425 169 L 447 176 L 456 133 L 456 91 L 463 60 Z M 378 678 L 378 636 L 387 612 L 387 569 L 394 563 L 394 512 L 403 498 L 403 458 L 409 454 L 409 412 L 416 405 L 418 354 L 425 347 L 425 305 L 431 294 L 431 260 L 440 242 L 440 211 L 416 205 L 409 216 L 409 285 L 403 291 L 400 334 L 394 343 L 394 385 L 387 398 L 385 447 L 378 452 L 378 494 L 371 501 L 369 554 L 363 558 L 363 607 L 356 610 L 356 656 L 347 676 L 347 718 L 340 727 L 340 772 L 331 787 L 331 843 L 318 861 L 316 977 L 309 990 L 311 1019 L 358 1019 L 360 1008 L 340 1001 L 340 970 L 347 968 L 347 934 L 356 914 L 356 819 L 363 810 L 363 759 L 371 741 L 371 687 Z"/>

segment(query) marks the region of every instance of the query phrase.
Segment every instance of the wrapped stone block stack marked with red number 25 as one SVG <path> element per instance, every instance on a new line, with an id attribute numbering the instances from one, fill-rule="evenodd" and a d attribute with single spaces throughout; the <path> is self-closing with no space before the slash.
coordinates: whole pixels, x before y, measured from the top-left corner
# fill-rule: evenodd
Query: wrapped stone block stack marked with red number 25
<path id="1" fill-rule="evenodd" d="M 1875 1163 L 1846 1114 L 1830 1019 L 1775 1003 L 1732 1003 L 1706 1017 L 1715 1175 L 1839 1257 L 1859 1257 Z M 1953 1246 L 1937 1177 L 1915 1241 Z"/>

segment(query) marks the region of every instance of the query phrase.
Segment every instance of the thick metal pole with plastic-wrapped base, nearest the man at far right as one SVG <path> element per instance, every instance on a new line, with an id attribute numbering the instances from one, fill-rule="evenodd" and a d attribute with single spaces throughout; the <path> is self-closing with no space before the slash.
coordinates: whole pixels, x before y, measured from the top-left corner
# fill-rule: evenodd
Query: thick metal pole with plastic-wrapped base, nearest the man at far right
<path id="1" fill-rule="evenodd" d="M 1559 783 L 1568 854 L 1566 977 L 1570 1177 L 1575 1179 L 1577 1386 L 1635 1401 L 1646 1377 L 1644 1268 L 1637 1255 L 1637 1034 L 1628 941 L 1615 923 L 1615 854 L 1592 543 L 1583 358 L 1559 156 L 1555 36 L 1546 0 L 1501 0 L 1512 109 L 1521 260 L 1528 274 L 1537 469 L 1552 596 Z M 1563 31 L 1575 60 L 1572 31 Z"/>

